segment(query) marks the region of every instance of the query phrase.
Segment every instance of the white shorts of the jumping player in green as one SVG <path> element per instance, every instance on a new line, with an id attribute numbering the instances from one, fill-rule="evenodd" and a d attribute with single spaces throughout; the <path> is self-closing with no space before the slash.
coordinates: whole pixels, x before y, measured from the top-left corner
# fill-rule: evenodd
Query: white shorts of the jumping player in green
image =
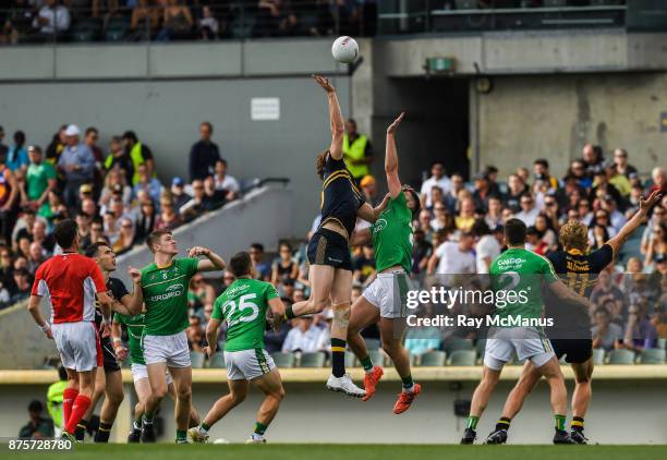
<path id="1" fill-rule="evenodd" d="M 383 318 L 404 318 L 409 289 L 405 271 L 392 271 L 377 274 L 362 295 L 380 311 Z"/>

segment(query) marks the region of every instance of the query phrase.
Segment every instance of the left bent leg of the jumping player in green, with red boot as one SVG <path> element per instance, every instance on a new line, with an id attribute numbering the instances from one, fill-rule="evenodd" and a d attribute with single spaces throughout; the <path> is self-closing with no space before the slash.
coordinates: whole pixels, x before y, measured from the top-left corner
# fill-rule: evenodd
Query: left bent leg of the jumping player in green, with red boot
<path id="1" fill-rule="evenodd" d="M 360 332 L 362 329 L 378 320 L 379 308 L 371 303 L 365 295 L 360 295 L 360 298 L 354 301 L 354 304 L 352 304 L 352 312 L 350 313 L 348 344 L 364 367 L 364 389 L 366 391 L 366 396 L 363 397 L 364 401 L 371 399 L 375 394 L 375 386 L 383 377 L 384 370 L 380 366 L 373 365 L 373 361 L 366 349 L 366 341 Z"/>

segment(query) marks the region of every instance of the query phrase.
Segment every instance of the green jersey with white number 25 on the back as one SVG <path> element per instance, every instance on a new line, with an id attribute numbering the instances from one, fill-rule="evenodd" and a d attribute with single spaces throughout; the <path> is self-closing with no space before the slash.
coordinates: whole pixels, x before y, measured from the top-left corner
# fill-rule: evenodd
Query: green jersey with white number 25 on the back
<path id="1" fill-rule="evenodd" d="M 227 322 L 226 351 L 264 348 L 268 302 L 277 296 L 270 282 L 239 278 L 216 299 L 211 317 Z"/>

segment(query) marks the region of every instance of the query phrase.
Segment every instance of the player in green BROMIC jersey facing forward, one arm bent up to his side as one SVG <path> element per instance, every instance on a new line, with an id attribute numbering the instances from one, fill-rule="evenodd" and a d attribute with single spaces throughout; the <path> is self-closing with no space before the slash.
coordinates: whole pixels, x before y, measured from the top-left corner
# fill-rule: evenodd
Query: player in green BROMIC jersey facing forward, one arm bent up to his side
<path id="1" fill-rule="evenodd" d="M 142 419 L 142 441 L 155 441 L 153 417 L 168 394 L 165 372 L 169 370 L 177 391 L 177 444 L 185 444 L 192 405 L 192 366 L 185 336 L 190 326 L 187 285 L 196 273 L 223 270 L 225 261 L 201 246 L 189 250 L 187 257 L 177 258 L 179 249 L 170 230 L 151 232 L 146 244 L 154 254 L 154 263 L 142 269 L 141 281 L 146 305 L 144 359 L 151 394 Z M 198 256 L 207 259 L 199 261 Z"/>

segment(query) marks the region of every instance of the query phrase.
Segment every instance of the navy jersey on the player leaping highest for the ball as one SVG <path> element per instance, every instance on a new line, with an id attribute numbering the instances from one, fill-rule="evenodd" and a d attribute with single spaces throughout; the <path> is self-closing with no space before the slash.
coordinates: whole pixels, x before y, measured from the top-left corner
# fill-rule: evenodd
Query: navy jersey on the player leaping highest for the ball
<path id="1" fill-rule="evenodd" d="M 356 210 L 364 204 L 362 195 L 354 185 L 352 175 L 343 159 L 333 159 L 327 154 L 322 184 L 322 223 L 336 220 L 352 234 L 356 223 Z"/>

